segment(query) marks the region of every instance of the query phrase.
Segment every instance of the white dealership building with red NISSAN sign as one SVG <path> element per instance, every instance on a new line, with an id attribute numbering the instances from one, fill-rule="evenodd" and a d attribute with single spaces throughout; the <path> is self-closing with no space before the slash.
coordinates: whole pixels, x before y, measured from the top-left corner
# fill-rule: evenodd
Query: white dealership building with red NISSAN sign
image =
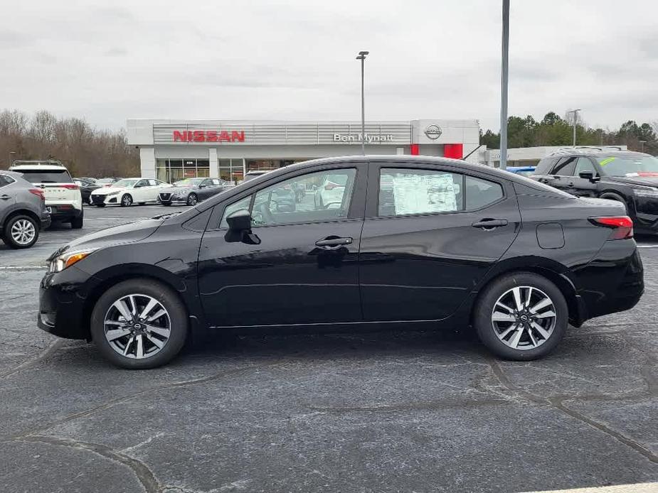
<path id="1" fill-rule="evenodd" d="M 139 148 L 142 177 L 242 180 L 329 156 L 361 154 L 360 121 L 129 119 L 128 143 Z M 477 120 L 366 121 L 366 154 L 410 154 L 482 161 Z"/>

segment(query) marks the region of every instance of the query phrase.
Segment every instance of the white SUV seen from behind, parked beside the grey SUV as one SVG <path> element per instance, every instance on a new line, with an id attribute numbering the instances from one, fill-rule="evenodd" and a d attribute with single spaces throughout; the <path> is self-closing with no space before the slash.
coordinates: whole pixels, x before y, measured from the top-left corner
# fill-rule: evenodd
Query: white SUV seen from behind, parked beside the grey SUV
<path id="1" fill-rule="evenodd" d="M 21 173 L 46 195 L 46 210 L 53 221 L 70 222 L 73 229 L 83 227 L 83 196 L 68 170 L 59 161 L 14 161 L 9 168 Z"/>

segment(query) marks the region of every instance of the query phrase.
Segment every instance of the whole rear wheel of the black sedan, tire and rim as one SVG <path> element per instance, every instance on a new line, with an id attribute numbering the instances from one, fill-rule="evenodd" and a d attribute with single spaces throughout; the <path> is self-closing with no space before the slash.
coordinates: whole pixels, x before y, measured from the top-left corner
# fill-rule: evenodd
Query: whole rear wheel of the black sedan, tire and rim
<path id="1" fill-rule="evenodd" d="M 568 306 L 559 288 L 531 272 L 507 274 L 484 289 L 474 326 L 487 348 L 506 359 L 543 357 L 562 339 Z"/>

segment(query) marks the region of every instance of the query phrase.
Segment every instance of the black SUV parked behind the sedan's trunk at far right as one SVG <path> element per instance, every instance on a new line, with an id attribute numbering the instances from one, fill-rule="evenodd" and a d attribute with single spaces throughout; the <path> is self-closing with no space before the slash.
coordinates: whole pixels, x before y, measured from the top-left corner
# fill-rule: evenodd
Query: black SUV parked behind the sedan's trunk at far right
<path id="1" fill-rule="evenodd" d="M 539 161 L 531 178 L 577 197 L 617 200 L 635 232 L 658 233 L 658 158 L 612 147 L 575 147 Z"/>

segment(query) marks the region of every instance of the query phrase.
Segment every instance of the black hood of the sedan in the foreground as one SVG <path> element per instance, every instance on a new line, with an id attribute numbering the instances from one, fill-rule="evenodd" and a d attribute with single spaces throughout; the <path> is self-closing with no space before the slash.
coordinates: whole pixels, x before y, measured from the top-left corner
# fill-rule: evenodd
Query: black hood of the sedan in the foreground
<path id="1" fill-rule="evenodd" d="M 91 234 L 74 239 L 73 242 L 66 244 L 64 247 L 55 251 L 48 260 L 53 259 L 65 251 L 77 251 L 86 249 L 95 249 L 102 247 L 110 247 L 116 244 L 134 243 L 142 239 L 147 239 L 151 236 L 156 229 L 164 222 L 166 217 L 153 218 L 137 222 L 129 222 L 127 224 L 120 224 L 118 226 L 102 229 Z"/>

